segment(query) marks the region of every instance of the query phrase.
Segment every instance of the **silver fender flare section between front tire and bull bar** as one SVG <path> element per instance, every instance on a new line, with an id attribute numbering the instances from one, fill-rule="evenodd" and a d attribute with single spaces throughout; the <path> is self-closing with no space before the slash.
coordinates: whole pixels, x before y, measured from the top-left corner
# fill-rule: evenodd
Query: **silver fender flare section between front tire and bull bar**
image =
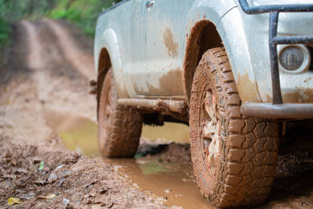
<path id="1" fill-rule="evenodd" d="M 217 31 L 228 54 L 241 101 L 261 102 L 243 23 L 238 7 L 234 7 L 220 19 Z"/>

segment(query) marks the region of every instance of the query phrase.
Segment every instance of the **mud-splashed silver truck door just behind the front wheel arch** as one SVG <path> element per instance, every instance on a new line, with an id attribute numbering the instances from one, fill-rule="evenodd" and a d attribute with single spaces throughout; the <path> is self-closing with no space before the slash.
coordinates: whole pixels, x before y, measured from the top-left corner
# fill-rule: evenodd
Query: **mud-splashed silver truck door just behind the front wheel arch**
<path id="1" fill-rule="evenodd" d="M 188 1 L 146 0 L 145 81 L 148 91 L 139 94 L 159 98 L 184 98 L 183 58 Z"/>

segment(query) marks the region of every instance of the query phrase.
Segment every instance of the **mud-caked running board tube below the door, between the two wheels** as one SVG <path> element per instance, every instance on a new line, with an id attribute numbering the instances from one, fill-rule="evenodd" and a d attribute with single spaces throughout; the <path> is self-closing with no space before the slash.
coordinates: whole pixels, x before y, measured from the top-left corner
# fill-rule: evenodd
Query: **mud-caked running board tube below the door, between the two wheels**
<path id="1" fill-rule="evenodd" d="M 186 113 L 188 109 L 185 101 L 171 99 L 118 99 L 118 104 L 137 108 L 149 108 L 161 112 Z"/>

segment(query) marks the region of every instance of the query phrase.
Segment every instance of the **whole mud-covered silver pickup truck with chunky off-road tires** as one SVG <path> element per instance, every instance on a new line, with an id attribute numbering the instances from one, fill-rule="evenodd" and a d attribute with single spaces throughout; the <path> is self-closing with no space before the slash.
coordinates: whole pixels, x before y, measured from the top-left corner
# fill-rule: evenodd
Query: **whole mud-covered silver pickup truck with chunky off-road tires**
<path id="1" fill-rule="evenodd" d="M 186 123 L 205 200 L 261 204 L 286 121 L 313 118 L 312 3 L 125 0 L 104 10 L 94 45 L 102 155 L 133 156 L 143 123 Z"/>

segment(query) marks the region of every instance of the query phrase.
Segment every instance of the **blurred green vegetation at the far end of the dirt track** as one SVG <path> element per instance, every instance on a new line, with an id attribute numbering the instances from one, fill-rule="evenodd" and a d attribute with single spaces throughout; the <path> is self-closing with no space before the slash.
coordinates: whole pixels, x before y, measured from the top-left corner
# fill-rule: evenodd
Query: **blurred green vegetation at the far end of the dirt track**
<path id="1" fill-rule="evenodd" d="M 94 36 L 98 14 L 122 0 L 0 0 L 0 49 L 9 40 L 10 24 L 41 17 L 66 19 Z"/>

